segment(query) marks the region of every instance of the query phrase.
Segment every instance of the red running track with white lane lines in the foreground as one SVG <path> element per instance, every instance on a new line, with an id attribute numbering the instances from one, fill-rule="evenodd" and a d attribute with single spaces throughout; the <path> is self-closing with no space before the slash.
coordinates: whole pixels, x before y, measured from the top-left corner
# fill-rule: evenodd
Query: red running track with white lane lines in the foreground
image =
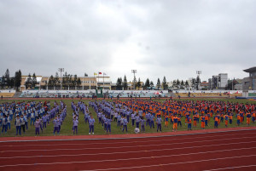
<path id="1" fill-rule="evenodd" d="M 3 142 L 0 170 L 256 170 L 256 130 L 143 139 Z"/>

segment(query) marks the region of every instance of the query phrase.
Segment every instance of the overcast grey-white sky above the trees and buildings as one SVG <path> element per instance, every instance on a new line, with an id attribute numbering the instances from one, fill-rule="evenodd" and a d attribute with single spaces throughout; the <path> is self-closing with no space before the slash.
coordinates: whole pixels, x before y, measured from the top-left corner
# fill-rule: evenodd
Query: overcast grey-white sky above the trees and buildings
<path id="1" fill-rule="evenodd" d="M 255 20 L 255 0 L 0 0 L 0 74 L 243 78 Z"/>

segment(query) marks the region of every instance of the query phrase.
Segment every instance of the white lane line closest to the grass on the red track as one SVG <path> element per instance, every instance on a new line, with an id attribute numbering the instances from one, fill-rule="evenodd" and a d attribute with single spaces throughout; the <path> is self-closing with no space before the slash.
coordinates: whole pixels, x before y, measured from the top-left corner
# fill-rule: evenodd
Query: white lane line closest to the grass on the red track
<path id="1" fill-rule="evenodd" d="M 255 134 L 255 133 L 247 133 L 247 134 Z M 242 134 L 242 135 L 247 135 Z M 53 144 L 53 145 L 1 145 L 1 147 L 19 147 L 19 146 L 60 146 L 60 145 L 112 145 L 112 144 L 131 144 L 131 143 L 143 143 L 143 142 L 160 142 L 160 141 L 176 141 L 176 140 L 195 140 L 196 139 L 206 139 L 206 138 L 217 138 L 217 137 L 227 137 L 227 136 L 236 136 L 241 134 L 224 134 L 224 135 L 215 135 L 215 136 L 204 136 L 204 137 L 191 137 L 191 138 L 184 138 L 184 139 L 169 139 L 169 140 L 141 140 L 141 141 L 126 141 L 126 142 L 109 142 L 109 143 L 93 143 L 90 144 L 88 141 L 87 143 L 73 143 L 73 144 Z"/>

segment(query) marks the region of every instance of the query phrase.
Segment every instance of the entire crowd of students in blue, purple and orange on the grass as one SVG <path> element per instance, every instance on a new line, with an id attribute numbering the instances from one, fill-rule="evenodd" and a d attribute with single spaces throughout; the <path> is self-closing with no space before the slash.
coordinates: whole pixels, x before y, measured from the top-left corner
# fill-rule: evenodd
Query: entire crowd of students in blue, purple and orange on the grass
<path id="1" fill-rule="evenodd" d="M 96 111 L 96 119 L 91 115 L 89 107 Z M 166 100 L 163 102 L 152 100 L 94 100 L 89 101 L 89 106 L 83 101 L 71 103 L 73 110 L 73 134 L 78 134 L 79 112 L 84 115 L 84 123 L 89 126 L 89 134 L 94 134 L 97 123 L 107 134 L 111 134 L 114 124 L 122 132 L 128 132 L 128 125 L 140 128 L 155 128 L 162 131 L 172 125 L 172 130 L 185 125 L 188 130 L 201 127 L 206 128 L 212 121 L 214 128 L 220 124 L 229 127 L 230 124 L 250 125 L 255 123 L 256 105 L 232 103 L 211 100 Z M 44 128 L 52 122 L 53 134 L 60 134 L 61 124 L 67 116 L 67 105 L 55 101 L 53 106 L 49 101 L 43 102 L 18 102 L 3 103 L 0 105 L 0 134 L 5 134 L 15 123 L 15 135 L 26 134 L 29 127 L 35 128 L 35 134 L 43 133 Z M 182 119 L 184 118 L 184 119 Z M 236 120 L 234 123 L 233 120 Z M 131 124 L 128 124 L 131 123 Z"/>

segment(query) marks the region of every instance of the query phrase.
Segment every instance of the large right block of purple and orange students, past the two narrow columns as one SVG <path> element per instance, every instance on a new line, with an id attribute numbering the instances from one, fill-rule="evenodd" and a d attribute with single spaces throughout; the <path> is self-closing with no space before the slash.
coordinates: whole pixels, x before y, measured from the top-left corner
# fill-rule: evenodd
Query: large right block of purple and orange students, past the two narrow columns
<path id="1" fill-rule="evenodd" d="M 172 131 L 182 127 L 182 117 L 188 130 L 193 127 L 204 129 L 211 120 L 214 128 L 218 128 L 221 123 L 228 127 L 229 124 L 234 124 L 233 119 L 236 119 L 237 126 L 250 125 L 255 123 L 256 117 L 256 105 L 209 100 L 95 100 L 90 101 L 89 106 L 96 111 L 98 123 L 109 134 L 112 122 L 123 132 L 127 132 L 127 123 L 130 122 L 132 126 L 141 128 L 142 132 L 145 131 L 145 126 L 156 126 L 157 132 L 161 132 L 162 123 L 166 128 L 169 123 L 172 124 Z"/>

